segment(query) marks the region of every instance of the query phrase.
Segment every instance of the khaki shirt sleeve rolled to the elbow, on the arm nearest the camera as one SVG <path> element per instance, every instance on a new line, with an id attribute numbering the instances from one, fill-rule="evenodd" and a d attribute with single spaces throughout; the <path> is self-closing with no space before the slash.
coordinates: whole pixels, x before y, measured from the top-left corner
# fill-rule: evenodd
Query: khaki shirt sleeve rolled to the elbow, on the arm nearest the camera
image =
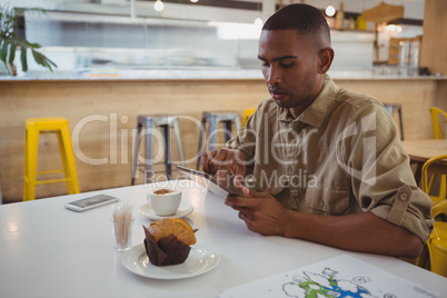
<path id="1" fill-rule="evenodd" d="M 434 224 L 431 199 L 416 185 L 394 119 L 378 105 L 370 105 L 361 113 L 370 113 L 371 109 L 377 116 L 376 161 L 371 163 L 375 181 L 367 183 L 352 177 L 354 193 L 364 210 L 406 228 L 425 242 Z M 365 152 L 366 148 L 359 148 L 362 143 L 351 139 L 346 146 L 352 152 L 349 162 L 360 165 L 365 156 L 356 152 Z"/>

